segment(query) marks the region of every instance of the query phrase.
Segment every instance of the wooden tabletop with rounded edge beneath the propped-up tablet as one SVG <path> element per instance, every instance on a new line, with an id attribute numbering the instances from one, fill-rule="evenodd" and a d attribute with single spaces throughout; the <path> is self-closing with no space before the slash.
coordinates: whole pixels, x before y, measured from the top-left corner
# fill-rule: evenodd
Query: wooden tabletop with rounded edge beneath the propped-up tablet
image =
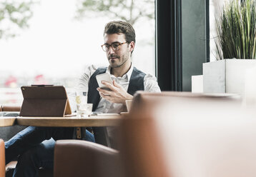
<path id="1" fill-rule="evenodd" d="M 118 126 L 121 116 L 105 115 L 90 116 L 89 118 L 73 117 L 16 117 L 16 123 L 21 126 L 57 126 L 57 127 L 81 127 L 81 126 Z"/>

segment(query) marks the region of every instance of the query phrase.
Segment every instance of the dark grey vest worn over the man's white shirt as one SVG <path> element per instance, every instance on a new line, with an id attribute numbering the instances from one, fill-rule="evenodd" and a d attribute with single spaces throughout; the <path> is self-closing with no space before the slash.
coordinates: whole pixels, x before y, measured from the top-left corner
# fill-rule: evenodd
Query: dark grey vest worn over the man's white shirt
<path id="1" fill-rule="evenodd" d="M 92 74 L 91 78 L 89 79 L 89 89 L 88 89 L 88 103 L 93 103 L 92 111 L 95 111 L 99 104 L 99 92 L 97 88 L 99 87 L 96 76 L 98 74 L 103 74 L 107 71 L 107 68 L 99 68 L 97 69 L 94 74 Z M 144 74 L 142 71 L 139 71 L 134 67 L 132 71 L 132 76 L 129 80 L 129 86 L 127 92 L 131 95 L 134 95 L 136 91 L 144 91 Z M 105 138 L 105 128 L 102 127 L 94 127 L 94 138 L 96 143 L 103 144 L 107 146 L 107 141 Z"/>

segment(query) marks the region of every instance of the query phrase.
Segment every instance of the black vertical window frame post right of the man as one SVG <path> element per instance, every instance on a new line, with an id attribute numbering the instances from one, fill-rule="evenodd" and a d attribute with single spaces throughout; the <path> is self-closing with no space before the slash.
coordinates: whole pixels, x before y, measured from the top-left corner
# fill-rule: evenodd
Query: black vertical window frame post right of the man
<path id="1" fill-rule="evenodd" d="M 155 1 L 156 73 L 162 91 L 182 91 L 181 1 Z"/>

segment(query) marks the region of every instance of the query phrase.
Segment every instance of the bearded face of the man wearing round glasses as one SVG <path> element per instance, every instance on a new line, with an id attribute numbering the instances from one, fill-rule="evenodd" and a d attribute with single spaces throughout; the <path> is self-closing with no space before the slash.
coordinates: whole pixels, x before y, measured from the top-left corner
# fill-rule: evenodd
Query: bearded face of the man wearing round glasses
<path id="1" fill-rule="evenodd" d="M 125 43 L 126 40 L 124 34 L 105 34 L 104 42 L 105 44 L 111 45 Z M 130 54 L 132 50 L 130 44 L 122 44 L 118 48 L 119 50 L 114 51 L 112 47 L 109 47 L 109 51 L 106 51 L 109 65 L 112 68 L 120 67 L 130 60 Z"/>

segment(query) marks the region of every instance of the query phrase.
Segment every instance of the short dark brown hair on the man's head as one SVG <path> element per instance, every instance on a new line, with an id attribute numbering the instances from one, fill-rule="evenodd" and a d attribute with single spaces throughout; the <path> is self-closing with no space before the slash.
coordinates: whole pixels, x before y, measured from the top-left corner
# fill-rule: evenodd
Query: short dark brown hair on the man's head
<path id="1" fill-rule="evenodd" d="M 132 25 L 125 21 L 110 21 L 104 29 L 104 34 L 124 34 L 125 40 L 130 44 L 135 43 L 135 31 Z"/>

